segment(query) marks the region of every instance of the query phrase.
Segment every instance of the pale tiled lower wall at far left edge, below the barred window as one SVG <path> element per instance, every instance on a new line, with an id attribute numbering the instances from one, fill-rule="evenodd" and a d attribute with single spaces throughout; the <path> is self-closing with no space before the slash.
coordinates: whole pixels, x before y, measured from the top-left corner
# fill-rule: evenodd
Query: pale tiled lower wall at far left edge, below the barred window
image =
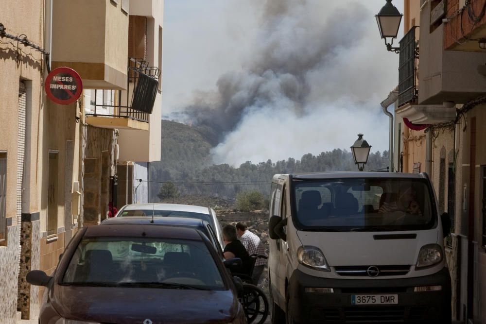
<path id="1" fill-rule="evenodd" d="M 1 324 L 16 324 L 20 226 L 9 226 L 7 231 L 7 246 L 0 247 L 0 320 Z"/>

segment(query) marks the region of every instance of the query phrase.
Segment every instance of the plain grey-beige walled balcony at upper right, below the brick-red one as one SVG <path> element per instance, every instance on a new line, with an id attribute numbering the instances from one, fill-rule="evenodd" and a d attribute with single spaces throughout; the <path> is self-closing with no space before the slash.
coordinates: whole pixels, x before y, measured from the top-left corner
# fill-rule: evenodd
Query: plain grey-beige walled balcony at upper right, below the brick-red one
<path id="1" fill-rule="evenodd" d="M 437 2 L 426 1 L 420 12 L 418 104 L 465 103 L 486 92 L 485 76 L 478 71 L 486 58 L 479 52 L 444 50 L 445 23 L 436 7 L 431 9 Z"/>

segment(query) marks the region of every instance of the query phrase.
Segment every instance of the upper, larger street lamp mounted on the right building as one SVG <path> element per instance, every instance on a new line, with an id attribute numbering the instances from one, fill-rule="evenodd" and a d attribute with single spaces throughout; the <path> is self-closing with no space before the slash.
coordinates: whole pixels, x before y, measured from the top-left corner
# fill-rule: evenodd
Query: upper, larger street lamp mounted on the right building
<path id="1" fill-rule="evenodd" d="M 402 16 L 397 7 L 392 4 L 392 0 L 386 0 L 386 4 L 382 10 L 375 16 L 378 29 L 380 29 L 380 35 L 385 39 L 385 45 L 388 51 L 398 53 L 400 50 L 399 47 L 392 47 L 392 45 L 393 39 L 397 38 Z M 386 38 L 391 38 L 391 42 L 387 43 Z"/>

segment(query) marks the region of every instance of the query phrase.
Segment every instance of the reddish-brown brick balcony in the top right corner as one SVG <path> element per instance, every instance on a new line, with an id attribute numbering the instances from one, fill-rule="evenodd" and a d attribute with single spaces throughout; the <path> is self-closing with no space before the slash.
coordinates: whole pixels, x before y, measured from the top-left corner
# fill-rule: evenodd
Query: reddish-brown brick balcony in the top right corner
<path id="1" fill-rule="evenodd" d="M 485 0 L 466 1 L 459 10 L 461 4 L 448 2 L 449 22 L 444 26 L 444 49 L 484 52 L 478 40 L 486 38 Z"/>

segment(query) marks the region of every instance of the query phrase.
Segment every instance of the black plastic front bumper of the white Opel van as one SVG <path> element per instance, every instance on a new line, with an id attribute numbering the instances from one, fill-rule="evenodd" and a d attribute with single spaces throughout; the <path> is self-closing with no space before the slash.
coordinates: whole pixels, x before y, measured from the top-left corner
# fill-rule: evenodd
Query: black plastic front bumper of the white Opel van
<path id="1" fill-rule="evenodd" d="M 415 292 L 415 287 L 442 286 Z M 332 293 L 305 288 L 332 288 Z M 352 305 L 356 294 L 398 295 L 396 305 Z M 295 270 L 289 307 L 296 323 L 451 323 L 451 276 L 447 268 L 432 275 L 403 279 L 327 279 Z"/>

